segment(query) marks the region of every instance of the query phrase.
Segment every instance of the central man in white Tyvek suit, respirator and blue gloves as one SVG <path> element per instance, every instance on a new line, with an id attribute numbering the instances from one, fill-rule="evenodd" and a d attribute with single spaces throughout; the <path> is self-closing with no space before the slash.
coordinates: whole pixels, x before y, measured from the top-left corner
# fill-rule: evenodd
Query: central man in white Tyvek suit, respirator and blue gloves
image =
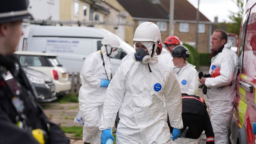
<path id="1" fill-rule="evenodd" d="M 109 129 L 114 126 L 118 109 L 116 144 L 170 144 L 164 102 L 174 127 L 174 141 L 183 127 L 179 83 L 172 68 L 157 60 L 155 50 L 161 35 L 156 24 L 140 24 L 133 41 L 133 59 L 120 65 L 107 90 L 99 127 L 101 144 L 111 138 Z"/>

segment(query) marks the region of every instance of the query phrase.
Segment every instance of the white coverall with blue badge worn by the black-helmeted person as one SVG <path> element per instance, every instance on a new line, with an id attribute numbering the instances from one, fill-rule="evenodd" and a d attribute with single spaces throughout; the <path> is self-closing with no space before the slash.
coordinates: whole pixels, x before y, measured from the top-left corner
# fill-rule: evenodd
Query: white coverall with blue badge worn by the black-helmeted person
<path id="1" fill-rule="evenodd" d="M 195 66 L 186 62 L 182 68 L 174 67 L 173 71 L 180 84 L 181 93 L 197 95 L 199 77 Z"/>

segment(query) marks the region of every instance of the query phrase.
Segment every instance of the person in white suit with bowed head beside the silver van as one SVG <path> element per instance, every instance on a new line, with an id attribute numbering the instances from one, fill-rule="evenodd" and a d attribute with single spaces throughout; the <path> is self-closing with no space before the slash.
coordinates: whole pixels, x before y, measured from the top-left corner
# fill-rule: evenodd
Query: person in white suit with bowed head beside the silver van
<path id="1" fill-rule="evenodd" d="M 107 34 L 101 44 L 101 50 L 86 57 L 80 73 L 82 86 L 78 100 L 84 119 L 83 141 L 85 144 L 100 143 L 99 122 L 104 97 L 112 77 L 110 57 L 117 55 L 117 48 L 120 48 L 120 42 L 114 34 Z"/>

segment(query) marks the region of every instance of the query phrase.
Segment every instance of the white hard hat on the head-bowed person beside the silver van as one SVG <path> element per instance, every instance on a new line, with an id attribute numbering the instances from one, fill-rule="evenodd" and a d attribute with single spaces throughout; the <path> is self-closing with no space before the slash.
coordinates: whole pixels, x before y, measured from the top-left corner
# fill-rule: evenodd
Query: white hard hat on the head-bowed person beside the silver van
<path id="1" fill-rule="evenodd" d="M 118 37 L 114 34 L 105 35 L 101 41 L 101 44 L 110 45 L 111 47 L 114 47 L 114 48 L 120 48 L 120 41 Z"/>

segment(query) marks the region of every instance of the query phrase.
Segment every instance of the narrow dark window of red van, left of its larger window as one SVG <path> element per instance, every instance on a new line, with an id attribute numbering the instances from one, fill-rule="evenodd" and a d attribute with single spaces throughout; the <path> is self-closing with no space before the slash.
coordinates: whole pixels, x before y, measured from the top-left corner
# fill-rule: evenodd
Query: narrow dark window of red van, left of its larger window
<path id="1" fill-rule="evenodd" d="M 241 32 L 240 32 L 240 36 L 239 36 L 239 45 L 238 45 L 238 57 L 239 57 L 239 73 L 243 72 L 243 51 L 244 51 L 244 46 L 245 46 L 245 32 L 246 32 L 246 27 L 247 27 L 247 23 L 248 23 L 248 16 L 249 16 L 249 12 L 248 11 L 242 20 L 242 27 L 241 27 Z"/>

